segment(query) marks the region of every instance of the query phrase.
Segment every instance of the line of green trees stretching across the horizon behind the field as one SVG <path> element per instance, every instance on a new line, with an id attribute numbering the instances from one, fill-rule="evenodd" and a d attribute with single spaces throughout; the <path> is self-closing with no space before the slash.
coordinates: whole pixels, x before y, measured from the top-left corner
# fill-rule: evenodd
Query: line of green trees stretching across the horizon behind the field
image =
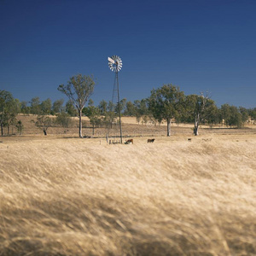
<path id="1" fill-rule="evenodd" d="M 149 121 L 157 124 L 166 120 L 169 125 L 167 136 L 170 135 L 173 121 L 194 123 L 194 133 L 198 135 L 200 124 L 221 124 L 241 128 L 249 117 L 252 120 L 256 119 L 256 108 L 237 108 L 229 104 L 218 108 L 209 96 L 203 94 L 185 96 L 183 91 L 172 84 L 152 90 L 151 96 L 146 99 L 131 102 L 124 98 L 119 104 L 102 100 L 95 106 L 90 99 L 82 113 L 90 119 L 93 130 L 96 127 L 112 128 L 117 121 L 119 108 L 122 116 L 136 117 L 138 124 L 147 124 Z M 69 117 L 78 116 L 78 111 L 70 100 L 64 104 L 63 99 L 55 102 L 46 99 L 41 102 L 39 97 L 34 97 L 30 102 L 20 102 L 9 91 L 0 90 L 1 135 L 3 135 L 3 127 L 7 127 L 8 134 L 11 125 L 14 125 L 18 131 L 23 129 L 20 121 L 16 119 L 18 113 L 38 115 L 35 125 L 42 128 L 44 134 L 51 122 L 49 115 L 56 115 L 57 123 L 63 127 L 71 123 Z"/>

